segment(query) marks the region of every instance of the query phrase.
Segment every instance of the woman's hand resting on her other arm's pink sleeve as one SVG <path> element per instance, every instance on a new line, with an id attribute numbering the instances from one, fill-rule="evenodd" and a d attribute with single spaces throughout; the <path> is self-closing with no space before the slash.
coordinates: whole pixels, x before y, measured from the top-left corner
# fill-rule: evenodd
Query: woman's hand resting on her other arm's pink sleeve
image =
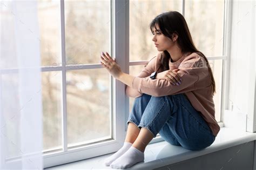
<path id="1" fill-rule="evenodd" d="M 179 77 L 178 73 L 172 70 L 166 70 L 160 73 L 157 73 L 157 79 L 166 79 L 170 81 L 173 85 L 180 85 L 181 78 Z"/>

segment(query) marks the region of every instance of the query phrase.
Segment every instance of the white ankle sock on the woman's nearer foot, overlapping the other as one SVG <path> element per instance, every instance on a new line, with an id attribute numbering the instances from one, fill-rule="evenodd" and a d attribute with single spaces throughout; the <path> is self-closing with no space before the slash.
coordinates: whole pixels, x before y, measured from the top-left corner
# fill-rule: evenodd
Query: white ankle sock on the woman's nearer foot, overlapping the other
<path id="1" fill-rule="evenodd" d="M 111 168 L 130 168 L 138 162 L 144 161 L 144 153 L 136 147 L 131 146 L 121 157 L 110 164 Z"/>

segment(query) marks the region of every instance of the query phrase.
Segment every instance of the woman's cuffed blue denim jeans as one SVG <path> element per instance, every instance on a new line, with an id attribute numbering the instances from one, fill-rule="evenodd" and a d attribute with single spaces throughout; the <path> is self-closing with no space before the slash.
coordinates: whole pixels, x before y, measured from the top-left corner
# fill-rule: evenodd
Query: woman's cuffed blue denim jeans
<path id="1" fill-rule="evenodd" d="M 135 98 L 129 122 L 138 128 L 147 128 L 155 138 L 193 151 L 210 146 L 215 136 L 210 127 L 194 109 L 185 94 L 153 97 L 148 94 Z"/>

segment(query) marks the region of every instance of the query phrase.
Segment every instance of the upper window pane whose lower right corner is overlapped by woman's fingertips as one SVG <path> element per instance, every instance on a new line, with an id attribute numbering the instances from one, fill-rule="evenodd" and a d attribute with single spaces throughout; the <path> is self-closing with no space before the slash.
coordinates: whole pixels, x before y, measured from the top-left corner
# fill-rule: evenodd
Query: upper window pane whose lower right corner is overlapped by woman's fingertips
<path id="1" fill-rule="evenodd" d="M 99 64 L 110 51 L 110 1 L 65 1 L 66 63 Z"/>

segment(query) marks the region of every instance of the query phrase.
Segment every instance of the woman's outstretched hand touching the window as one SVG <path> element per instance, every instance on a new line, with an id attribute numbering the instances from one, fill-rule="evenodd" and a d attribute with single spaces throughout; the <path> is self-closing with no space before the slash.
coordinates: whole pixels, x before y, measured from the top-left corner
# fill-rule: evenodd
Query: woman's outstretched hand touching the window
<path id="1" fill-rule="evenodd" d="M 116 79 L 119 78 L 119 76 L 122 74 L 121 67 L 116 63 L 116 59 L 112 59 L 109 55 L 109 53 L 102 52 L 102 55 L 100 55 L 100 64 L 102 64 L 107 71 Z"/>

